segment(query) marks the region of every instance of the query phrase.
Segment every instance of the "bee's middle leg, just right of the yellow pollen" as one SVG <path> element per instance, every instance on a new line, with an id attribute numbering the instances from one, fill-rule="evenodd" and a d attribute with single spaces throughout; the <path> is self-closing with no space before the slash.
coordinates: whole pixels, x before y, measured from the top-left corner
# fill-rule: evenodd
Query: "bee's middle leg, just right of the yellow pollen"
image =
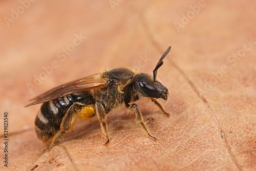
<path id="1" fill-rule="evenodd" d="M 104 143 L 104 145 L 108 145 L 108 143 L 110 142 L 110 139 L 109 139 L 109 133 L 108 133 L 108 125 L 106 124 L 107 113 L 105 111 L 103 104 L 99 100 L 95 101 L 95 111 L 96 111 L 98 120 L 100 121 L 102 134 L 106 137 L 106 142 Z"/>

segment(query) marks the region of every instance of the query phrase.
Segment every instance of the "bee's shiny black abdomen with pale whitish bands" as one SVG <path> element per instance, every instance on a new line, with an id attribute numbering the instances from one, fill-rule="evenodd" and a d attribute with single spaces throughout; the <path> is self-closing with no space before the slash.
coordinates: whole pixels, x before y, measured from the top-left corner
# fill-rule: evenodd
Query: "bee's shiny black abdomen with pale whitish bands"
<path id="1" fill-rule="evenodd" d="M 59 130 L 63 117 L 74 102 L 89 105 L 94 103 L 94 100 L 90 92 L 86 91 L 43 103 L 35 119 L 37 137 L 47 141 L 53 136 Z"/>

